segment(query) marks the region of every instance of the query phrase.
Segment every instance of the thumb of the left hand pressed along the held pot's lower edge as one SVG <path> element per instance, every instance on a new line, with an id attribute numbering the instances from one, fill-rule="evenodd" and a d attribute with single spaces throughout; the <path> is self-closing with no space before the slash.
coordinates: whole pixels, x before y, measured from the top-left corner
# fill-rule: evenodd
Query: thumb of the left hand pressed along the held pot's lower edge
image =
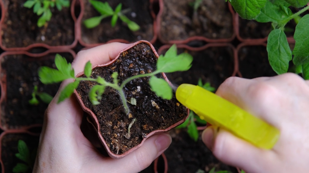
<path id="1" fill-rule="evenodd" d="M 113 171 L 117 173 L 121 172 L 139 172 L 148 167 L 159 155 L 167 149 L 171 144 L 171 136 L 168 134 L 155 135 L 147 139 L 142 147 L 133 151 L 131 154 L 125 156 L 122 159 L 94 159 L 93 167 L 102 171 Z M 121 167 L 119 167 L 121 165 Z M 95 171 L 95 170 L 94 170 Z M 90 172 L 94 172 L 90 171 Z"/>

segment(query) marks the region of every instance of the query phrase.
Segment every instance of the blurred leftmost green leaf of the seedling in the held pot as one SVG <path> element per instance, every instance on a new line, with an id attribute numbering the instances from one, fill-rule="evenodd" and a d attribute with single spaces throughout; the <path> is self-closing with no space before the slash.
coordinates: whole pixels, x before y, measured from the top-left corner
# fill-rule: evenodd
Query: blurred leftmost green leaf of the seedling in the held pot
<path id="1" fill-rule="evenodd" d="M 57 83 L 72 78 L 72 74 L 63 74 L 61 71 L 47 66 L 41 67 L 38 74 L 40 77 L 40 81 L 44 84 Z"/>

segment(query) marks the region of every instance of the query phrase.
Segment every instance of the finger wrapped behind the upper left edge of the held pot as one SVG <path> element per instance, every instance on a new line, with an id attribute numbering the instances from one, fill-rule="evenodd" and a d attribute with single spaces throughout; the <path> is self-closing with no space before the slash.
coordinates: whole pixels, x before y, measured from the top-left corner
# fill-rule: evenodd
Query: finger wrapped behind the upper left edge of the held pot
<path id="1" fill-rule="evenodd" d="M 116 58 L 119 52 L 131 44 L 112 42 L 91 49 L 81 50 L 72 62 L 75 75 L 84 70 L 85 64 L 90 61 L 92 66 L 107 63 Z"/>

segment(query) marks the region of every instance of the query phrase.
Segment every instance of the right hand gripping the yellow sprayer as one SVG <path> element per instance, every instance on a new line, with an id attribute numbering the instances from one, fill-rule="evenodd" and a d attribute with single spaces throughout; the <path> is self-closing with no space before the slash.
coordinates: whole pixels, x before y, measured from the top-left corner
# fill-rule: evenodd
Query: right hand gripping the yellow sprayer
<path id="1" fill-rule="evenodd" d="M 309 81 L 291 73 L 255 79 L 231 77 L 216 94 L 281 133 L 273 149 L 265 150 L 210 126 L 202 139 L 219 160 L 248 173 L 309 172 Z"/>

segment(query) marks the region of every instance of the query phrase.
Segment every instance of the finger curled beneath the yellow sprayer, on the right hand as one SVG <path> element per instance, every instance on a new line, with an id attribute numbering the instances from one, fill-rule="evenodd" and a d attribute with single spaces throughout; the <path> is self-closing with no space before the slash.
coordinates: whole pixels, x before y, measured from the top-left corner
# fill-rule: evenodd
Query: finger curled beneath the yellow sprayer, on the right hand
<path id="1" fill-rule="evenodd" d="M 255 147 L 219 127 L 207 127 L 202 140 L 223 163 L 248 172 L 263 172 L 263 167 L 275 157 L 272 152 Z"/>

